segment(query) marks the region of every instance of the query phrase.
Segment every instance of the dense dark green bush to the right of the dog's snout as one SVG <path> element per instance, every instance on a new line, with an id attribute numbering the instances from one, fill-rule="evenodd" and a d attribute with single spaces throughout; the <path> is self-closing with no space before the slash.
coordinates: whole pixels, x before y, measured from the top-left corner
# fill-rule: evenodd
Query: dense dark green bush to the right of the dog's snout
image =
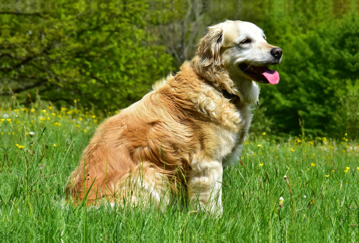
<path id="1" fill-rule="evenodd" d="M 300 118 L 308 132 L 345 133 L 349 116 L 358 117 L 344 115 L 340 102 L 359 75 L 358 37 L 359 15 L 350 14 L 283 43 L 290 56 L 284 56 L 278 68 L 281 82 L 262 89 L 266 115 L 273 118 L 275 129 L 299 133 Z M 359 104 L 358 99 L 352 101 Z M 352 131 L 353 138 L 357 131 Z"/>

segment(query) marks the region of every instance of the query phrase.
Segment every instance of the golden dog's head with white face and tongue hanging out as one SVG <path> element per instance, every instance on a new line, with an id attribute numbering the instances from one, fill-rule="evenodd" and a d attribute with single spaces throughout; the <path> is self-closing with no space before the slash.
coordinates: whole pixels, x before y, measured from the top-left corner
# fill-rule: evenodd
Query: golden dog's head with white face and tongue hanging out
<path id="1" fill-rule="evenodd" d="M 258 83 L 277 84 L 278 72 L 267 65 L 278 64 L 282 53 L 282 49 L 266 42 L 263 30 L 255 24 L 226 21 L 209 27 L 200 40 L 197 65 L 212 81 L 227 72 L 234 81 L 244 77 Z"/>

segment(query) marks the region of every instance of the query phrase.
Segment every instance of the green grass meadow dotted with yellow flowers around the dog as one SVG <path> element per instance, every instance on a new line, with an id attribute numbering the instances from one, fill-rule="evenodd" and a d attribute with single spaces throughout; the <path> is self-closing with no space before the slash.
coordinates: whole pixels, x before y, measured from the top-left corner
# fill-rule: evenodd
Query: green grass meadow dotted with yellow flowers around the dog
<path id="1" fill-rule="evenodd" d="M 359 242 L 359 149 L 344 134 L 251 135 L 243 165 L 224 170 L 219 219 L 176 198 L 163 213 L 62 208 L 66 178 L 101 118 L 50 108 L 0 111 L 0 242 Z"/>

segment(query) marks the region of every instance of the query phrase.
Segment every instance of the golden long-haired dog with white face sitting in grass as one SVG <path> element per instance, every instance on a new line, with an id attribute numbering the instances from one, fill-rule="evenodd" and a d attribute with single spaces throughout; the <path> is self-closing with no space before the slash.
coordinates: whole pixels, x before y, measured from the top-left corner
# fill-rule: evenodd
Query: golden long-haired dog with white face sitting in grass
<path id="1" fill-rule="evenodd" d="M 65 186 L 66 200 L 155 205 L 185 191 L 194 210 L 222 215 L 223 166 L 235 164 L 261 84 L 277 84 L 283 51 L 255 24 L 208 27 L 195 57 L 140 101 L 106 119 Z"/>

